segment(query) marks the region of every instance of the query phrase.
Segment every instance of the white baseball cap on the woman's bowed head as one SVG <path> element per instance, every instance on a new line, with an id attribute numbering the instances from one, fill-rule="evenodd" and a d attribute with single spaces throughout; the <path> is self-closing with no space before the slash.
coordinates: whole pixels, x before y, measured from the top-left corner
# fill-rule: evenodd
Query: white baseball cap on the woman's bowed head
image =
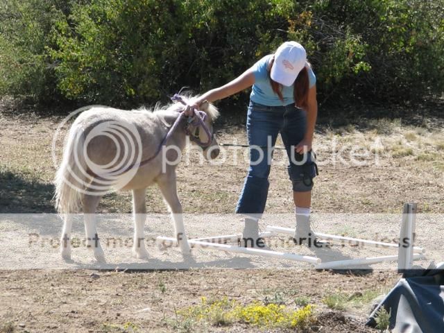
<path id="1" fill-rule="evenodd" d="M 271 78 L 287 87 L 293 85 L 307 62 L 307 53 L 297 42 L 284 42 L 275 52 L 275 61 L 271 67 Z"/>

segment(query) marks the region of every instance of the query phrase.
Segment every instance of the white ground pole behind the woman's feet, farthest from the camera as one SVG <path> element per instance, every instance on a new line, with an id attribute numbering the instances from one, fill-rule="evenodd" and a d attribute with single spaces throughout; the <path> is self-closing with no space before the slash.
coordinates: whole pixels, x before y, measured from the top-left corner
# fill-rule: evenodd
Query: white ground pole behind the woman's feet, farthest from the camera
<path id="1" fill-rule="evenodd" d="M 282 233 L 282 234 L 294 234 L 294 229 L 292 228 L 284 228 L 284 227 L 276 227 L 275 225 L 268 225 L 266 227 L 267 231 L 275 232 L 275 233 Z M 329 241 L 336 241 L 339 243 L 345 243 L 347 242 L 350 245 L 361 245 L 364 244 L 366 246 L 371 246 L 373 248 L 399 248 L 399 245 L 396 243 L 386 243 L 383 241 L 370 241 L 368 239 L 359 239 L 359 238 L 352 238 L 352 237 L 345 237 L 345 236 L 337 236 L 336 234 L 323 234 L 322 232 L 315 232 L 314 235 L 316 237 L 319 237 L 320 239 L 326 239 Z M 418 246 L 413 246 L 413 252 L 414 253 L 425 253 L 425 250 L 423 248 L 420 248 Z"/>

